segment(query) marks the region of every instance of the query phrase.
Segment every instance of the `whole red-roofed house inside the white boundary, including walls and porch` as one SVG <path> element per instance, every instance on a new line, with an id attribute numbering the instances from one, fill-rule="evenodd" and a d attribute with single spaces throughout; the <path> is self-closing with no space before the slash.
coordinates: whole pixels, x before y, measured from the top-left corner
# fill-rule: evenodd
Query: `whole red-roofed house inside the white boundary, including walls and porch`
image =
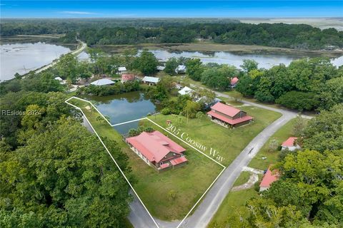
<path id="1" fill-rule="evenodd" d="M 157 171 L 183 166 L 188 162 L 184 157 L 186 149 L 157 130 L 152 133 L 143 132 L 125 141 L 131 150 Z"/>

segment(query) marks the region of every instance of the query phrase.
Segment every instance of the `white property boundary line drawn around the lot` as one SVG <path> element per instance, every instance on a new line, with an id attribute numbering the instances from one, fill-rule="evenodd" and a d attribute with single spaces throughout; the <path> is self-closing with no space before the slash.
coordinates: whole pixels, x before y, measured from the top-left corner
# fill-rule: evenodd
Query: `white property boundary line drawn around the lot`
<path id="1" fill-rule="evenodd" d="M 111 127 L 117 126 L 117 125 L 124 125 L 126 123 L 133 123 L 139 120 L 149 120 L 151 123 L 154 123 L 155 125 L 157 125 L 159 128 L 162 128 L 163 130 L 165 130 L 166 132 L 170 133 L 171 135 L 173 135 L 175 138 L 178 138 L 179 140 L 181 140 L 182 142 L 186 143 L 189 147 L 192 147 L 194 150 L 197 150 L 197 152 L 200 152 L 202 155 L 208 157 L 210 160 L 216 162 L 218 165 L 220 165 L 221 167 L 223 167 L 223 170 L 221 172 L 219 172 L 219 175 L 214 179 L 214 181 L 211 183 L 211 185 L 209 185 L 209 187 L 207 188 L 207 190 L 202 194 L 202 196 L 197 200 L 197 202 L 194 204 L 194 206 L 189 210 L 189 212 L 186 214 L 186 216 L 184 217 L 184 219 L 182 219 L 182 221 L 179 223 L 179 225 L 177 225 L 176 228 L 179 228 L 181 226 L 181 224 L 184 222 L 185 219 L 187 219 L 187 217 L 189 216 L 189 214 L 192 213 L 193 209 L 195 207 L 197 207 L 197 204 L 199 204 L 199 202 L 202 200 L 202 198 L 207 194 L 207 192 L 209 191 L 209 189 L 212 187 L 212 185 L 214 185 L 214 183 L 217 181 L 217 179 L 220 177 L 220 175 L 222 175 L 222 173 L 224 172 L 224 170 L 226 169 L 226 167 L 224 165 L 222 165 L 221 163 L 217 162 L 216 160 L 214 160 L 212 157 L 209 157 L 208 155 L 204 154 L 204 152 L 200 151 L 199 149 L 197 149 L 196 147 L 193 147 L 192 145 L 189 145 L 188 142 L 182 140 L 182 138 L 179 138 L 177 135 L 174 135 L 173 133 L 169 132 L 169 130 L 166 130 L 165 128 L 161 127 L 161 125 L 158 125 L 157 123 L 155 123 L 154 121 L 150 120 L 149 118 L 140 118 L 140 119 L 136 119 L 136 120 L 130 120 L 130 121 L 126 121 L 124 123 L 118 123 L 118 124 L 114 124 L 112 125 L 111 123 L 109 123 L 109 120 L 107 120 L 104 115 L 102 115 L 102 113 L 89 101 L 89 100 L 84 100 L 82 98 L 77 98 L 75 96 L 72 96 L 71 98 L 68 98 L 67 100 L 65 100 L 65 103 L 67 103 L 68 105 L 73 106 L 74 108 L 76 108 L 77 110 L 80 110 L 82 115 L 84 115 L 84 118 L 86 118 L 87 122 L 89 123 L 89 125 L 91 126 L 91 129 L 94 130 L 94 133 L 96 134 L 96 136 L 99 138 L 101 144 L 104 146 L 104 148 L 106 149 L 106 152 L 109 154 L 109 156 L 111 157 L 111 159 L 114 161 L 114 163 L 116 164 L 116 167 L 118 167 L 119 171 L 121 172 L 121 174 L 124 176 L 126 182 L 129 184 L 129 186 L 131 187 L 131 189 L 134 191 L 134 194 L 136 195 L 136 197 L 139 199 L 139 202 L 141 202 L 141 204 L 143 205 L 144 209 L 146 209 L 146 212 L 148 212 L 149 217 L 151 217 L 152 221 L 154 222 L 154 224 L 156 225 L 156 227 L 160 228 L 159 225 L 156 223 L 154 217 L 151 216 L 149 210 L 145 207 L 145 204 L 143 203 L 143 201 L 141 201 L 141 198 L 139 197 L 139 195 L 137 194 L 136 190 L 134 190 L 134 187 L 131 185 L 131 183 L 129 182 L 129 180 L 127 179 L 127 177 L 124 175 L 124 172 L 121 170 L 121 168 L 119 167 L 118 163 L 116 163 L 116 160 L 114 160 L 114 157 L 111 155 L 111 152 L 109 152 L 109 150 L 107 149 L 106 145 L 104 144 L 104 142 L 101 140 L 100 136 L 98 135 L 98 133 L 96 133 L 96 130 L 93 128 L 93 125 L 91 125 L 91 123 L 89 122 L 88 118 L 86 117 L 86 115 L 84 114 L 84 112 L 81 110 L 81 108 L 77 107 L 76 105 L 73 105 L 71 103 L 69 103 L 68 101 L 71 99 L 77 99 L 77 100 L 82 100 L 86 103 L 91 104 L 91 106 L 93 108 L 95 108 L 95 110 L 101 115 L 102 118 L 104 118 L 104 120 L 106 120 L 106 122 L 111 125 Z"/>

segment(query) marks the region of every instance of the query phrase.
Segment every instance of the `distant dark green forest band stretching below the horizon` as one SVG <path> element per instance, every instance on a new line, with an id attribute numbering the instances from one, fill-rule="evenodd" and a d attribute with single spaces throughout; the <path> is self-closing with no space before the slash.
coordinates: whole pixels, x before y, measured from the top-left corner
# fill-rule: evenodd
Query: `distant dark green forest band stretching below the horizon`
<path id="1" fill-rule="evenodd" d="M 102 21 L 101 21 L 102 20 Z M 88 22 L 88 24 L 87 24 Z M 1 21 L 1 36 L 66 33 L 61 41 L 72 42 L 78 34 L 89 46 L 137 43 L 190 43 L 199 39 L 214 43 L 261 45 L 301 50 L 343 47 L 343 31 L 321 30 L 305 24 L 244 24 L 223 19 L 134 19 Z M 75 41 L 75 40 L 74 40 Z"/>

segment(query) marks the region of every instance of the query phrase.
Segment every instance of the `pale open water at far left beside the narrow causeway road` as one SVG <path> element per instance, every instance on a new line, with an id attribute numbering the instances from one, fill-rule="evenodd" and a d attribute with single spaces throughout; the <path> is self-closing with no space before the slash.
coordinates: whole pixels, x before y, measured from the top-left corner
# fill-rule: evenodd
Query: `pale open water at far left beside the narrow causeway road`
<path id="1" fill-rule="evenodd" d="M 6 43 L 0 46 L 1 81 L 41 68 L 69 53 L 70 48 L 49 43 Z"/>

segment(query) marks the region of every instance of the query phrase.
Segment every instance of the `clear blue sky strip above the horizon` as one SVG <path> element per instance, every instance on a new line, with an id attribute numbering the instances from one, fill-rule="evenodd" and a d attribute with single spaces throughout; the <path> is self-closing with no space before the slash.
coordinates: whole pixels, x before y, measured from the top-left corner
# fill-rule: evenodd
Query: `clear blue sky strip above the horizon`
<path id="1" fill-rule="evenodd" d="M 343 17 L 337 1 L 6 1 L 0 18 Z"/>

